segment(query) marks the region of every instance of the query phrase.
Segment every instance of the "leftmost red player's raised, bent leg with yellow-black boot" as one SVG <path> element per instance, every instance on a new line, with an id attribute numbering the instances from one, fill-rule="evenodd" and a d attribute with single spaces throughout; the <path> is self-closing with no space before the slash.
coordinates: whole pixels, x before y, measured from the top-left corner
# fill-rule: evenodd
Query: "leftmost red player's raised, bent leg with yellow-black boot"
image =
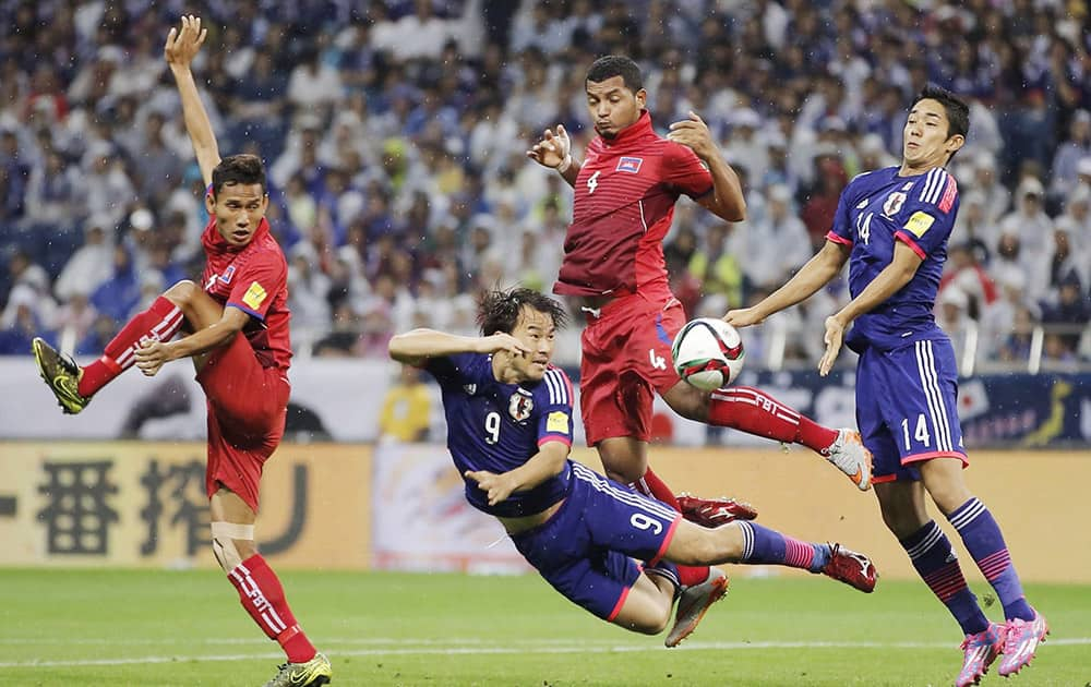
<path id="1" fill-rule="evenodd" d="M 183 322 L 193 330 L 203 329 L 218 322 L 223 313 L 223 306 L 197 285 L 179 281 L 147 310 L 133 315 L 106 345 L 101 357 L 85 367 L 80 367 L 40 338 L 34 339 L 34 357 L 41 377 L 61 408 L 75 414 L 86 408 L 99 389 L 132 366 L 136 349 L 144 341 L 169 341 Z"/>

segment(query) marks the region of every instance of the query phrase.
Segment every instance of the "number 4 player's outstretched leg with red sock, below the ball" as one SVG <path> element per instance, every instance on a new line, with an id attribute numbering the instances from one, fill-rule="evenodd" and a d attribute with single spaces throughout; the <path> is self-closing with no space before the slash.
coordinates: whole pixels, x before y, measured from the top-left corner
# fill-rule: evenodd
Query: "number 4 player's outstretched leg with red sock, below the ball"
<path id="1" fill-rule="evenodd" d="M 802 444 L 843 472 L 861 491 L 871 487 L 872 456 L 851 429 L 823 426 L 765 391 L 732 386 L 711 394 L 680 381 L 663 400 L 683 418 L 786 444 Z"/>

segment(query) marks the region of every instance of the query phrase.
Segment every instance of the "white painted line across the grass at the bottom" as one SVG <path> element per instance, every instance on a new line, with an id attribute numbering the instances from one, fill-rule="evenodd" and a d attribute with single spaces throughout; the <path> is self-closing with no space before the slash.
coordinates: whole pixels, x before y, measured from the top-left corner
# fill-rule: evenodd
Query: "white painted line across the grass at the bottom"
<path id="1" fill-rule="evenodd" d="M 336 640 L 324 640 L 325 643 L 343 643 Z M 356 640 L 346 640 L 344 643 Z M 124 643 L 124 642 L 118 642 Z M 225 642 L 226 643 L 226 642 Z M 389 643 L 407 644 L 415 643 L 412 640 L 392 639 Z M 423 640 L 419 643 L 429 644 L 431 640 Z M 387 649 L 349 649 L 347 651 L 331 652 L 334 659 L 337 656 L 394 656 L 394 655 L 500 655 L 500 654 L 572 654 L 572 653 L 632 653 L 648 651 L 652 647 L 648 644 L 600 644 L 594 646 L 586 642 L 580 643 L 555 643 L 549 641 L 526 641 L 506 642 L 508 644 L 518 643 L 521 646 L 491 646 L 481 643 L 480 646 L 451 646 L 449 642 L 434 646 L 420 646 L 411 648 L 387 648 Z M 1091 637 L 1066 637 L 1048 640 L 1051 647 L 1066 646 L 1088 646 L 1091 644 Z M 686 642 L 675 649 L 675 651 L 738 651 L 743 649 L 950 649 L 951 642 L 880 642 L 880 641 L 708 641 L 708 642 Z M 260 661 L 283 659 L 280 652 L 259 652 L 239 653 L 227 655 L 200 655 L 200 656 L 135 656 L 128 659 L 87 659 L 72 661 L 9 661 L 0 662 L 0 668 L 17 667 L 79 667 L 89 665 L 141 665 L 153 663 L 177 663 L 181 661 Z"/>

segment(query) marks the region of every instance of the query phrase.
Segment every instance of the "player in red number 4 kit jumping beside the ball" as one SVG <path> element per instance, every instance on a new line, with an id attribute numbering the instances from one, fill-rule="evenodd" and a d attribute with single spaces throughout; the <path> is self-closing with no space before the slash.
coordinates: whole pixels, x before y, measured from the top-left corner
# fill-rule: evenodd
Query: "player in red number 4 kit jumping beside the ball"
<path id="1" fill-rule="evenodd" d="M 584 83 L 598 134 L 584 162 L 572 158 L 560 125 L 547 130 L 527 156 L 556 169 L 575 190 L 553 291 L 580 299 L 586 313 L 580 409 L 587 443 L 598 449 L 607 474 L 709 527 L 753 517 L 731 499 L 676 498 L 648 469 L 655 390 L 685 418 L 808 446 L 866 490 L 871 458 L 856 432 L 820 426 L 758 389 L 708 394 L 679 378 L 670 349 L 686 315 L 668 286 L 662 240 L 682 194 L 724 220 L 744 219 L 739 178 L 696 114 L 671 124 L 666 138 L 655 132 L 633 60 L 601 58 Z M 708 568 L 681 571 L 698 604 L 702 589 L 720 575 Z"/>

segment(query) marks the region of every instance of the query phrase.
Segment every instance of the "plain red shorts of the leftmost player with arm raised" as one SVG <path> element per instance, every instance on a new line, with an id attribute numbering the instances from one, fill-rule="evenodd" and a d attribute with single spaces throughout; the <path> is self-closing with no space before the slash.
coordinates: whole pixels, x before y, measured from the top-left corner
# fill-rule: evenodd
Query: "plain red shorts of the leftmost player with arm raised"
<path id="1" fill-rule="evenodd" d="M 262 466 L 284 436 L 288 377 L 279 367 L 262 367 L 238 334 L 208 357 L 197 382 L 208 402 L 208 497 L 223 485 L 256 513 Z"/>

